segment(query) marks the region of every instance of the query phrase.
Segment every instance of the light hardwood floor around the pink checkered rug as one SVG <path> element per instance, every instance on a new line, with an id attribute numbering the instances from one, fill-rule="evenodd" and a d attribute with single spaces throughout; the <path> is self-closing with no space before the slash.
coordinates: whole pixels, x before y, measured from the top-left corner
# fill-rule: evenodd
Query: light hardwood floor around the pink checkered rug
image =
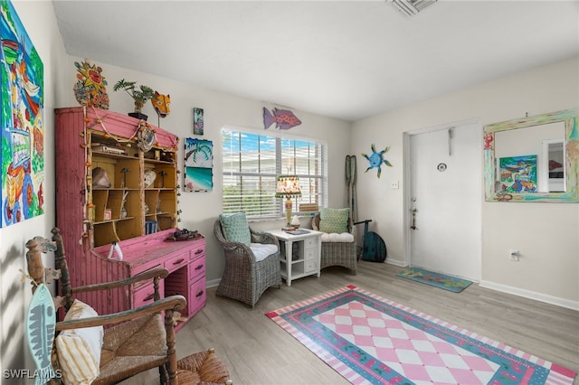
<path id="1" fill-rule="evenodd" d="M 233 384 L 346 384 L 264 314 L 348 284 L 456 324 L 518 350 L 579 371 L 579 312 L 511 296 L 473 284 L 456 294 L 395 277 L 402 268 L 360 261 L 358 274 L 326 268 L 270 288 L 251 309 L 207 290 L 207 305 L 177 333 L 177 356 L 213 347 L 227 364 Z M 149 371 L 126 384 L 158 383 Z M 579 384 L 575 379 L 574 384 Z"/>

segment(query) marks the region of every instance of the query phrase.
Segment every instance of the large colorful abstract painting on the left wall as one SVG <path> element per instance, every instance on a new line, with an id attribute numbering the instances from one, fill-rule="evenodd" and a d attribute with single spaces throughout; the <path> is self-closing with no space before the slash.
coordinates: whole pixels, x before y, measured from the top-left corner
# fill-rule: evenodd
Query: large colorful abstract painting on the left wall
<path id="1" fill-rule="evenodd" d="M 43 214 L 43 61 L 11 2 L 2 1 L 0 227 Z"/>

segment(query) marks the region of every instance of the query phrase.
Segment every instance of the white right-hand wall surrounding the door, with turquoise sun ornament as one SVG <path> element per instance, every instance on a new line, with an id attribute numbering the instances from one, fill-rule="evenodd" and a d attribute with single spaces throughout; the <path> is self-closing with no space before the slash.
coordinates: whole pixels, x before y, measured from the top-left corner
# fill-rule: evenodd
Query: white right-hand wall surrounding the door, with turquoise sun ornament
<path id="1" fill-rule="evenodd" d="M 527 113 L 534 116 L 577 108 L 577 89 L 579 60 L 575 58 L 356 122 L 353 154 L 367 153 L 371 143 L 391 146 L 384 157 L 394 166 L 383 169 L 377 179 L 363 174 L 367 162 L 358 162 L 357 180 L 359 218 L 374 220 L 388 247 L 388 259 L 401 265 L 406 261 L 405 188 L 389 188 L 391 181 L 403 181 L 404 132 L 470 118 L 480 118 L 487 125 Z M 576 203 L 483 202 L 481 283 L 579 308 L 578 224 Z M 508 259 L 508 249 L 520 250 L 519 262 Z"/>

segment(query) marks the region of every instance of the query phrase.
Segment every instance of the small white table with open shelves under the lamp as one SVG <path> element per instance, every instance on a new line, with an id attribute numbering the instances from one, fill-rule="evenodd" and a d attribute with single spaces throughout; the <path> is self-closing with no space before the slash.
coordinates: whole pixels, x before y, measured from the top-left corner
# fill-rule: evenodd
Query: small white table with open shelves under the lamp
<path id="1" fill-rule="evenodd" d="M 280 241 L 281 277 L 291 286 L 291 280 L 301 277 L 319 277 L 319 258 L 322 250 L 322 232 L 307 230 L 294 235 L 283 230 L 268 230 Z"/>

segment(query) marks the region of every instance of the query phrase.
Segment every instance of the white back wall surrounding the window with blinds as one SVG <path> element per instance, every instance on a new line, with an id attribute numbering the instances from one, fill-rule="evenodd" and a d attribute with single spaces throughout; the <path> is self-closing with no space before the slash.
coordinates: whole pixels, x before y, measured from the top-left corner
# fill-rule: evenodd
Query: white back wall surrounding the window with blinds
<path id="1" fill-rule="evenodd" d="M 70 57 L 64 66 L 66 77 L 62 79 L 62 102 L 58 107 L 78 106 L 72 93 L 72 86 L 76 81 L 74 61 L 83 58 Z M 156 75 L 128 70 L 108 63 L 92 61 L 91 64 L 100 65 L 103 75 L 108 81 L 109 109 L 116 112 L 132 112 L 133 100 L 124 91 L 113 91 L 114 84 L 120 80 L 137 81 L 138 85 L 145 84 L 162 94 L 171 96 L 171 113 L 160 119 L 147 103 L 143 113 L 147 114 L 148 122 L 179 136 L 179 169 L 183 170 L 185 137 L 198 137 L 212 140 L 214 144 L 214 190 L 213 192 L 183 192 L 179 197 L 179 208 L 183 211 L 179 227 L 188 230 L 199 230 L 204 234 L 207 243 L 207 280 L 214 285 L 223 273 L 223 249 L 214 239 L 213 226 L 217 216 L 222 212 L 222 152 L 221 129 L 224 126 L 248 127 L 267 133 L 276 128 L 263 130 L 262 107 L 259 100 L 242 99 L 232 95 L 202 89 L 191 84 L 176 80 L 161 78 Z M 204 136 L 193 135 L 193 108 L 204 108 Z M 344 182 L 344 158 L 349 149 L 348 137 L 350 124 L 337 119 L 320 117 L 304 111 L 293 110 L 302 121 L 301 125 L 293 127 L 288 135 L 316 138 L 327 142 L 328 146 L 328 180 L 329 205 L 344 207 L 346 204 L 346 184 Z M 337 164 L 337 165 L 336 165 Z M 183 174 L 181 174 L 183 175 Z M 182 177 L 182 176 L 181 176 Z M 343 184 L 344 183 L 344 184 Z M 183 184 L 183 183 L 181 183 Z M 343 184 L 343 185 L 342 185 Z M 252 223 L 255 230 L 279 229 L 284 221 L 265 221 Z"/>

